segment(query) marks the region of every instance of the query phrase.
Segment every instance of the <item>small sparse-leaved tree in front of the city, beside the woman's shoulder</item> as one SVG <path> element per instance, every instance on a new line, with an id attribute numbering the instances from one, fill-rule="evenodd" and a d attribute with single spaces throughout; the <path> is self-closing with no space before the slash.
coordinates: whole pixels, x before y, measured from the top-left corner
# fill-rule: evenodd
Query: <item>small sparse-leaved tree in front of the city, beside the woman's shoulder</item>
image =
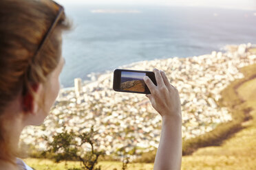
<path id="1" fill-rule="evenodd" d="M 81 169 L 85 170 L 100 170 L 100 167 L 96 167 L 99 156 L 104 156 L 105 151 L 98 151 L 95 149 L 97 140 L 94 139 L 94 127 L 92 126 L 89 132 L 83 132 L 78 134 L 77 132 L 67 130 L 64 127 L 63 132 L 57 133 L 52 136 L 53 140 L 50 141 L 47 136 L 47 151 L 43 152 L 52 155 L 52 158 L 56 162 L 61 160 L 78 160 L 81 161 Z M 85 151 L 85 146 L 90 146 L 89 151 Z M 73 169 L 74 170 L 74 169 Z"/>

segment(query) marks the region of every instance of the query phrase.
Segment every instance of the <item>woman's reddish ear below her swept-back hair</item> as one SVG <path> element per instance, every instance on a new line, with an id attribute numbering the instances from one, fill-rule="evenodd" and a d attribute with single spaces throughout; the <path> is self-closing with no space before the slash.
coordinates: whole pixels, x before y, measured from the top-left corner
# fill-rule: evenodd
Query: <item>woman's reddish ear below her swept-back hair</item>
<path id="1" fill-rule="evenodd" d="M 33 84 L 32 90 L 34 95 L 31 94 L 29 91 L 25 95 L 23 95 L 22 106 L 23 112 L 36 114 L 36 112 L 38 112 L 39 110 L 38 99 L 41 95 L 42 84 Z"/>

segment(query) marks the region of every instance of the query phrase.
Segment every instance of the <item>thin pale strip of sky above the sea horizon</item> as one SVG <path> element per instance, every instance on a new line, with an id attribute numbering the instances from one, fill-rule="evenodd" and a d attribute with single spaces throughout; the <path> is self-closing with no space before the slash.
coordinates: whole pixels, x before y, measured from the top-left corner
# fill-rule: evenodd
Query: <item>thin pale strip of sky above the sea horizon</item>
<path id="1" fill-rule="evenodd" d="M 256 10 L 256 0 L 56 0 L 63 5 L 100 4 L 100 5 L 174 5 L 200 6 L 214 8 L 232 8 L 239 10 Z"/>

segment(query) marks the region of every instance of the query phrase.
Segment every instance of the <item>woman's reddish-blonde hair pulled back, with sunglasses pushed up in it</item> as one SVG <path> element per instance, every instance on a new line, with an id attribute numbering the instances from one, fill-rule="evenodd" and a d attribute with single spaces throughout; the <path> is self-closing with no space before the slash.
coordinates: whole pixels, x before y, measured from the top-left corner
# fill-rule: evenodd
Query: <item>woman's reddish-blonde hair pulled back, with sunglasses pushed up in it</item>
<path id="1" fill-rule="evenodd" d="M 0 159 L 9 160 L 15 154 L 2 127 L 6 106 L 21 94 L 33 94 L 33 84 L 44 84 L 61 58 L 57 36 L 70 29 L 64 13 L 44 48 L 34 56 L 57 14 L 57 6 L 50 0 L 0 1 Z"/>

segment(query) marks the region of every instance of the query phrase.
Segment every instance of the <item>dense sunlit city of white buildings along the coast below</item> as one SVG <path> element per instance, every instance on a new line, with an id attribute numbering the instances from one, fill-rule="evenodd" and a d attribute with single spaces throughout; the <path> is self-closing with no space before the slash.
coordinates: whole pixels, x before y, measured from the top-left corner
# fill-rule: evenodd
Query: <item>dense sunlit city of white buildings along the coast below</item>
<path id="1" fill-rule="evenodd" d="M 213 130 L 217 124 L 231 121 L 227 108 L 217 106 L 220 92 L 244 75 L 239 68 L 256 63 L 250 43 L 227 45 L 224 51 L 202 56 L 142 61 L 119 69 L 164 71 L 180 93 L 182 105 L 182 138 L 193 138 Z M 92 81 L 74 80 L 74 88 L 60 90 L 56 103 L 41 126 L 26 127 L 21 141 L 44 150 L 51 136 L 65 130 L 89 132 L 94 126 L 96 148 L 107 155 L 120 148 L 136 148 L 136 153 L 158 147 L 162 118 L 145 95 L 113 90 L 113 72 L 91 75 Z M 88 146 L 85 145 L 85 150 Z M 134 157 L 136 158 L 136 157 Z"/>

